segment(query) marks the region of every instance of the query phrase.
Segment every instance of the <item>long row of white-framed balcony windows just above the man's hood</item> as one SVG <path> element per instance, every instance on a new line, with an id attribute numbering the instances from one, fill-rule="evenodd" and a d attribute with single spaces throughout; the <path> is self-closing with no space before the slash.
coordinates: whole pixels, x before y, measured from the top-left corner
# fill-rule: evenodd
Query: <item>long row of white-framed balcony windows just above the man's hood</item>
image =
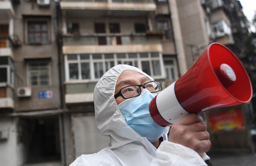
<path id="1" fill-rule="evenodd" d="M 97 80 L 117 64 L 135 66 L 150 76 L 163 78 L 161 57 L 160 53 L 66 55 L 66 80 Z"/>

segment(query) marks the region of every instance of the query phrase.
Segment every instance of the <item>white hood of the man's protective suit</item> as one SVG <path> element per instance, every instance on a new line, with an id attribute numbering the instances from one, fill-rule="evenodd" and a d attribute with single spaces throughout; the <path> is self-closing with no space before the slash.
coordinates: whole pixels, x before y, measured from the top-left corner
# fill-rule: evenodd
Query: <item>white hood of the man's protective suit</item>
<path id="1" fill-rule="evenodd" d="M 143 138 L 126 124 L 114 98 L 116 82 L 125 70 L 134 70 L 153 80 L 142 70 L 126 64 L 119 64 L 108 70 L 94 88 L 95 118 L 101 135 L 110 136 L 109 148 L 117 148 Z M 169 128 L 169 127 L 168 127 Z M 165 132 L 168 131 L 167 129 Z"/>

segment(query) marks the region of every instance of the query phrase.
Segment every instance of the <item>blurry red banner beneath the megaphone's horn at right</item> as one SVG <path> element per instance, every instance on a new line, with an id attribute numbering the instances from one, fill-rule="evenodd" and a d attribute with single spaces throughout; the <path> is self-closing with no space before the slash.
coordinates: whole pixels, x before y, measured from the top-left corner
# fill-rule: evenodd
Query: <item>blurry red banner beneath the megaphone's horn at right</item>
<path id="1" fill-rule="evenodd" d="M 211 131 L 232 131 L 245 128 L 241 108 L 214 113 L 208 117 Z"/>

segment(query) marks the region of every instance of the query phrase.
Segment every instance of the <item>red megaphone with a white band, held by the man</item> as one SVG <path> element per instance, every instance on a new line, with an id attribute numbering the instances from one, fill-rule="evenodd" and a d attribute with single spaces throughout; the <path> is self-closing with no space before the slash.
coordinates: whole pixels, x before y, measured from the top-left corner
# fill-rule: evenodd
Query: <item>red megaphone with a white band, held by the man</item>
<path id="1" fill-rule="evenodd" d="M 149 111 L 166 127 L 190 113 L 244 104 L 251 98 L 252 84 L 242 63 L 227 47 L 212 43 L 186 74 L 153 98 Z"/>

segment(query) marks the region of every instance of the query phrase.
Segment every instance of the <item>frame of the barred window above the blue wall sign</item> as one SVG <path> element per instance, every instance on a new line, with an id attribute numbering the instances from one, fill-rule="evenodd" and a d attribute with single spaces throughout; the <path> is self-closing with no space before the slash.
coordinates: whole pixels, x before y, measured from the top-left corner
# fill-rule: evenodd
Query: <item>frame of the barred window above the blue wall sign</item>
<path id="1" fill-rule="evenodd" d="M 29 65 L 32 63 L 36 63 L 36 64 L 40 64 L 40 63 L 46 63 L 48 64 L 48 85 L 41 85 L 40 80 L 38 80 L 38 83 L 36 86 L 32 85 L 30 83 L 30 71 L 29 71 Z M 52 68 L 51 68 L 51 62 L 50 61 L 28 61 L 26 64 L 26 72 L 27 72 L 27 82 L 28 82 L 28 86 L 30 87 L 48 87 L 48 86 L 52 86 Z"/>

